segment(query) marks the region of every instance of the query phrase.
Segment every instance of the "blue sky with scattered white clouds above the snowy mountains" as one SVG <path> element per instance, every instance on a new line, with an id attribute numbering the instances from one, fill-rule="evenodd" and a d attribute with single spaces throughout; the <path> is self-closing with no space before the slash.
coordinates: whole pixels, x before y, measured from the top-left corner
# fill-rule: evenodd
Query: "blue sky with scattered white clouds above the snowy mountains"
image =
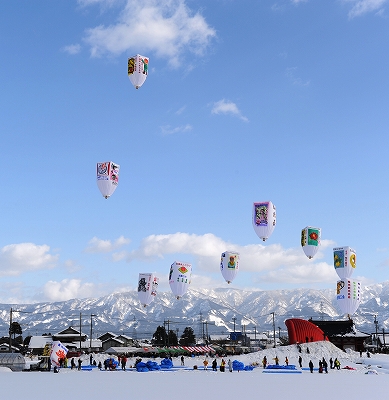
<path id="1" fill-rule="evenodd" d="M 335 289 L 334 246 L 364 285 L 389 279 L 389 1 L 13 0 L 0 21 L 1 302 L 134 290 L 139 272 L 168 291 L 175 260 L 227 287 L 225 250 L 235 288 Z M 108 200 L 101 161 L 120 164 Z"/>

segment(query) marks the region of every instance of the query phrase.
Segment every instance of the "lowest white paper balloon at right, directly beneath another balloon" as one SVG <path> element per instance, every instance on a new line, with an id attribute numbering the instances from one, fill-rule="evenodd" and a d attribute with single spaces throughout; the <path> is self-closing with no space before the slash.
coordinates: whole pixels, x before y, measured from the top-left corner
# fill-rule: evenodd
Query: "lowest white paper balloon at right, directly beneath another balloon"
<path id="1" fill-rule="evenodd" d="M 344 278 L 336 283 L 336 302 L 343 314 L 352 315 L 361 303 L 361 282 Z"/>

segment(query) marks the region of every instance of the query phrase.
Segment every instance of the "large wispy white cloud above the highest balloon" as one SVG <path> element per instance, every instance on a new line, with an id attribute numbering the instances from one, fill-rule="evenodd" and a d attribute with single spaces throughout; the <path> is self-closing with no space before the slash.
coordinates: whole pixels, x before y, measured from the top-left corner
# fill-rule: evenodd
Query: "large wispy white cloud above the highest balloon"
<path id="1" fill-rule="evenodd" d="M 201 55 L 215 36 L 215 30 L 200 13 L 193 13 L 185 0 L 126 0 L 115 24 L 88 29 L 84 40 L 93 57 L 154 52 L 178 67 L 185 51 Z"/>

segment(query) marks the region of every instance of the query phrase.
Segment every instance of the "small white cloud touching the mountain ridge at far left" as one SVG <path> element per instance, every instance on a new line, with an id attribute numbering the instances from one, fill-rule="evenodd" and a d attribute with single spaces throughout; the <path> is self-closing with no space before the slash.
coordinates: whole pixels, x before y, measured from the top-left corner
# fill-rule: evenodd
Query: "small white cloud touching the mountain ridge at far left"
<path id="1" fill-rule="evenodd" d="M 48 301 L 65 301 L 93 296 L 95 285 L 81 283 L 80 279 L 63 279 L 61 282 L 48 281 L 43 287 L 43 294 Z"/>

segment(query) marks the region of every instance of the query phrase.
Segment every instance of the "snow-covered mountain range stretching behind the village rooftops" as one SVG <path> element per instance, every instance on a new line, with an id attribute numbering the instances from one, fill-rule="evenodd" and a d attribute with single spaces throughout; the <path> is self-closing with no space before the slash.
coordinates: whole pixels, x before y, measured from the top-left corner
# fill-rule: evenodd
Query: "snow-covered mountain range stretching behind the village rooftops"
<path id="1" fill-rule="evenodd" d="M 357 329 L 379 332 L 389 325 L 389 282 L 363 289 L 362 302 L 353 316 Z M 0 335 L 7 336 L 10 322 L 20 323 L 23 336 L 57 333 L 68 326 L 95 338 L 111 331 L 134 338 L 151 338 L 158 325 L 182 334 L 193 328 L 196 336 L 225 334 L 228 331 L 266 332 L 275 327 L 285 331 L 288 318 L 344 319 L 336 306 L 335 291 L 295 289 L 246 291 L 238 289 L 190 289 L 180 300 L 171 293 L 158 293 L 144 308 L 137 292 L 113 293 L 100 298 L 73 299 L 56 303 L 1 304 Z M 91 316 L 92 315 L 92 316 Z M 91 324 L 92 321 L 92 324 Z"/>

